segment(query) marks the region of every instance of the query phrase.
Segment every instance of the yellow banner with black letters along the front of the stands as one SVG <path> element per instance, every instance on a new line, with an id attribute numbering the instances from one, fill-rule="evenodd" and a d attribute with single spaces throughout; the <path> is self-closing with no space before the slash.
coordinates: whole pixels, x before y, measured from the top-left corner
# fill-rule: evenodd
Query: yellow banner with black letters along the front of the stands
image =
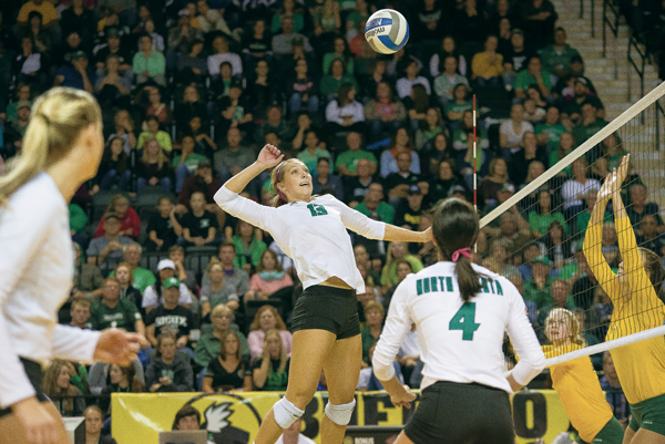
<path id="1" fill-rule="evenodd" d="M 280 396 L 278 392 L 233 395 L 113 393 L 112 435 L 119 444 L 156 443 L 158 433 L 172 430 L 176 412 L 188 404 L 201 412 L 202 428 L 212 433 L 215 443 L 252 443 L 262 419 Z M 413 413 L 413 409 L 395 407 L 385 392 L 356 393 L 356 401 L 350 425 L 401 425 Z M 317 393 L 303 415 L 303 434 L 317 443 L 320 443 L 326 402 L 327 393 Z M 569 417 L 553 390 L 521 392 L 513 396 L 512 403 L 518 444 L 533 442 L 536 437 L 551 443 L 569 428 Z"/>

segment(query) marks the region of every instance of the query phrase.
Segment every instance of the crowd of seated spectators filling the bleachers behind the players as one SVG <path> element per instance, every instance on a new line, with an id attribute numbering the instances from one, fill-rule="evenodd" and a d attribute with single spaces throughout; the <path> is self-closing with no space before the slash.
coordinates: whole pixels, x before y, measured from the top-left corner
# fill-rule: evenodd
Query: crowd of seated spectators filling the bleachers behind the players
<path id="1" fill-rule="evenodd" d="M 364 38 L 380 8 L 410 23 L 409 44 L 393 55 Z M 75 282 L 61 321 L 140 331 L 152 344 L 131 369 L 88 373 L 57 361 L 49 394 L 285 389 L 293 262 L 213 195 L 268 143 L 307 165 L 315 194 L 424 229 L 441 199 L 472 198 L 475 94 L 478 204 L 488 214 L 607 123 L 602 91 L 556 17 L 549 0 L 2 2 L 0 169 L 20 155 L 32 101 L 47 89 L 85 90 L 103 111 L 99 174 L 70 205 Z M 580 240 L 621 141 L 611 135 L 591 153 L 479 238 L 480 260 L 518 286 L 535 327 L 552 304 L 575 309 L 597 328 L 590 342 L 603 340 L 612 306 Z M 269 205 L 267 174 L 245 194 Z M 631 183 L 640 242 L 664 256 L 657 206 L 637 176 Z M 603 251 L 616 265 L 611 224 L 607 215 Z M 367 287 L 359 389 L 371 390 L 390 297 L 437 255 L 431 244 L 360 236 L 354 246 Z M 418 386 L 415 334 L 396 366 Z M 63 412 L 81 413 L 72 400 Z"/>

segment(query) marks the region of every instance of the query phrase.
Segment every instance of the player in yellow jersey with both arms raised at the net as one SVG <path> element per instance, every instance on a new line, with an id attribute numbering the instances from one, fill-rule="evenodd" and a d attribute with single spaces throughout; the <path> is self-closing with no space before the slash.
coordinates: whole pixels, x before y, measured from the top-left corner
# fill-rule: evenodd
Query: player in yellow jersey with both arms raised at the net
<path id="1" fill-rule="evenodd" d="M 638 248 L 635 233 L 621 197 L 628 174 L 630 155 L 607 175 L 591 214 L 584 255 L 614 311 L 605 340 L 614 340 L 663 326 L 665 306 L 658 291 L 665 277 L 661 258 Z M 602 251 L 603 215 L 612 199 L 618 249 L 623 261 L 614 273 Z M 631 405 L 632 419 L 624 444 L 665 443 L 665 341 L 656 337 L 610 351 L 618 380 Z"/>

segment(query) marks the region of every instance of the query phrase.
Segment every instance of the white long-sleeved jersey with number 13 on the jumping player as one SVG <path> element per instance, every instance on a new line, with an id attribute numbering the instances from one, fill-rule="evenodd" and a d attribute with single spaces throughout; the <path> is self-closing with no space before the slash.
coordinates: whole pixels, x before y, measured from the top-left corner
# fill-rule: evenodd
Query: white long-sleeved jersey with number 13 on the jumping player
<path id="1" fill-rule="evenodd" d="M 336 276 L 357 292 L 365 292 L 346 228 L 369 239 L 382 239 L 386 224 L 370 219 L 330 195 L 274 208 L 241 197 L 223 186 L 215 194 L 215 202 L 229 215 L 270 233 L 296 264 L 303 288 Z"/>

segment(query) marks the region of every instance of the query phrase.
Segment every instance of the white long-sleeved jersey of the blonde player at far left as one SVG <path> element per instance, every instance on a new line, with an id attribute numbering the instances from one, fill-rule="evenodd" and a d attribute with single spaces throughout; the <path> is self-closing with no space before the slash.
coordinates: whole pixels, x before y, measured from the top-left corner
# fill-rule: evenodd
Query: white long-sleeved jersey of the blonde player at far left
<path id="1" fill-rule="evenodd" d="M 92 361 L 100 333 L 58 324 L 73 273 L 68 206 L 40 173 L 0 207 L 0 409 L 35 394 L 19 357 Z"/>

